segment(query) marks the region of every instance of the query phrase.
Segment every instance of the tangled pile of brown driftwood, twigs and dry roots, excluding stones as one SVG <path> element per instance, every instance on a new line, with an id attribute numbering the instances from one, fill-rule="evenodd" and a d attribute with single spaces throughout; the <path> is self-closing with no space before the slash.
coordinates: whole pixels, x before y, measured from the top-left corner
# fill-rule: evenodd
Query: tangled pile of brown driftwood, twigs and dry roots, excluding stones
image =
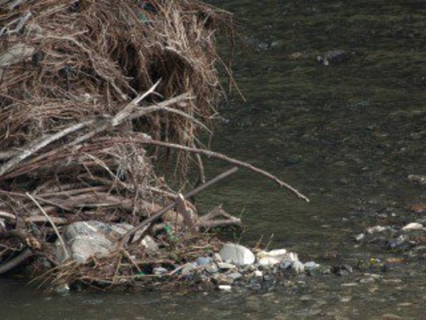
<path id="1" fill-rule="evenodd" d="M 305 198 L 197 140 L 222 94 L 217 65 L 228 72 L 215 36 L 231 26 L 231 14 L 195 0 L 0 1 L 0 273 L 28 262 L 53 282 L 114 284 L 211 250 L 218 240 L 199 230 L 239 219 L 220 210 L 198 218 L 155 173 L 165 159 L 181 178 L 194 164 L 205 183 L 201 156 L 216 157 Z M 89 220 L 134 228 L 107 259 L 58 262 L 62 228 Z M 137 231 L 166 250 L 132 247 Z"/>

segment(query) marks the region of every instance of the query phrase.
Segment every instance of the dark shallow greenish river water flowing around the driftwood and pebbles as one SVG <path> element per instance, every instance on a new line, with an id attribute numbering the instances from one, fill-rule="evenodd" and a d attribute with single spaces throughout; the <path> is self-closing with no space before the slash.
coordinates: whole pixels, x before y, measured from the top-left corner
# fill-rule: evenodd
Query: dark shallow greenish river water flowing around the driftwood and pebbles
<path id="1" fill-rule="evenodd" d="M 386 259 L 353 236 L 414 220 L 426 203 L 426 1 L 211 1 L 233 12 L 244 47 L 212 149 L 283 178 L 310 198 L 240 171 L 197 198 L 246 223 L 236 241 L 285 247 L 300 260 Z M 322 65 L 317 55 L 350 58 Z M 208 160 L 208 173 L 229 165 Z M 424 214 L 424 213 L 423 213 Z M 416 215 L 418 218 L 418 215 Z M 0 319 L 425 319 L 426 269 L 412 261 L 370 277 L 295 277 L 269 292 L 43 294 L 1 281 Z M 397 318 L 392 318 L 397 319 Z"/>

